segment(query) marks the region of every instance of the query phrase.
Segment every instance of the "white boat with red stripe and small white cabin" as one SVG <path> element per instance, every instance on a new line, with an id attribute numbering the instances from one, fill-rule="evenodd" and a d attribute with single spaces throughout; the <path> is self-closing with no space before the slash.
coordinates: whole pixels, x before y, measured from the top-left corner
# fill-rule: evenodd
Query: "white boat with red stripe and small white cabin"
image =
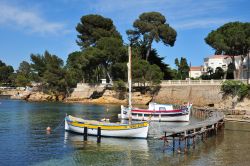
<path id="1" fill-rule="evenodd" d="M 121 106 L 121 119 L 146 120 L 146 121 L 167 121 L 167 122 L 188 122 L 192 104 L 186 104 L 179 109 L 174 109 L 171 104 L 149 103 L 148 109 L 125 108 Z"/>

